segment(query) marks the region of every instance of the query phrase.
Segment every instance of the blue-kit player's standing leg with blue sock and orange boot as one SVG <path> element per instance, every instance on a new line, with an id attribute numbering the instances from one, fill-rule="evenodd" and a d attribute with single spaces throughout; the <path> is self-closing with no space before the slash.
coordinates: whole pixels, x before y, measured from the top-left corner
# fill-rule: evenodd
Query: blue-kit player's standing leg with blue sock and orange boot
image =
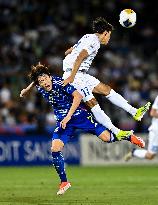
<path id="1" fill-rule="evenodd" d="M 61 184 L 59 186 L 57 195 L 64 194 L 71 187 L 71 184 L 70 182 L 67 181 L 67 177 L 66 177 L 66 172 L 64 167 L 64 157 L 61 152 L 63 147 L 64 147 L 64 143 L 60 139 L 54 139 L 52 141 L 51 151 L 52 151 L 53 165 L 61 180 Z"/>

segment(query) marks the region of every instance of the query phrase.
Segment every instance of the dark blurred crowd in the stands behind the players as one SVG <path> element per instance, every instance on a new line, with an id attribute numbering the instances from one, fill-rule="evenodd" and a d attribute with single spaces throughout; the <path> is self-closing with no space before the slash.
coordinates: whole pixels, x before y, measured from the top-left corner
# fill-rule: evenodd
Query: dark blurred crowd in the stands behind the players
<path id="1" fill-rule="evenodd" d="M 119 13 L 131 8 L 137 24 L 123 28 Z M 66 49 L 86 33 L 92 21 L 105 17 L 115 30 L 101 47 L 89 73 L 140 107 L 158 95 L 157 7 L 145 0 L 0 0 L 0 133 L 48 133 L 55 126 L 53 110 L 33 90 L 19 97 L 29 83 L 31 65 L 50 65 L 52 74 L 62 76 Z M 96 96 L 113 123 L 122 129 L 147 132 L 151 118 L 141 122 L 105 97 Z"/>

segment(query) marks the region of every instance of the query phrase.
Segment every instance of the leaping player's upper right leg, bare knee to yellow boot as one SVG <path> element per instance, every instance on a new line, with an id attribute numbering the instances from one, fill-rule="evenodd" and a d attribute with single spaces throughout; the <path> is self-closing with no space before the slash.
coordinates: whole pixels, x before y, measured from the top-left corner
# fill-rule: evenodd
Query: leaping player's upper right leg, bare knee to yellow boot
<path id="1" fill-rule="evenodd" d="M 125 100 L 120 94 L 116 93 L 110 86 L 105 85 L 103 83 L 99 83 L 94 89 L 94 93 L 105 95 L 108 100 L 110 100 L 113 104 L 121 107 L 122 109 L 126 110 L 130 113 L 133 118 L 137 121 L 140 121 L 144 114 L 149 110 L 150 102 L 145 104 L 144 106 L 136 109 L 132 107 L 127 100 Z"/>

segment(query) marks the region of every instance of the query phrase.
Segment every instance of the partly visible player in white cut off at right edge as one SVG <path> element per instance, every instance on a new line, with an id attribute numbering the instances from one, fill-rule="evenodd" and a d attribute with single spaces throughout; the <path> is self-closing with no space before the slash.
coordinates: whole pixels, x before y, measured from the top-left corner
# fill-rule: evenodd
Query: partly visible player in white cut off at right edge
<path id="1" fill-rule="evenodd" d="M 158 153 L 158 96 L 152 105 L 150 116 L 152 117 L 152 122 L 148 129 L 148 149 L 133 149 L 131 152 L 125 155 L 125 161 L 130 160 L 132 157 L 151 160 Z"/>

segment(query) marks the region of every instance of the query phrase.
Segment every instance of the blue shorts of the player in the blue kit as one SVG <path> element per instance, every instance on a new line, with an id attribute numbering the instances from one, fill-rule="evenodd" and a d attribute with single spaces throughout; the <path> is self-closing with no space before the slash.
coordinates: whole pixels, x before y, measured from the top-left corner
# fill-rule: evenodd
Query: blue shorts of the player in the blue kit
<path id="1" fill-rule="evenodd" d="M 53 133 L 52 140 L 60 139 L 66 144 L 74 134 L 75 129 L 82 129 L 85 132 L 99 136 L 103 131 L 107 130 L 103 125 L 99 124 L 93 115 L 87 111 L 82 114 L 73 116 L 67 123 L 65 129 L 60 127 L 60 122 L 57 122 L 56 128 Z"/>

